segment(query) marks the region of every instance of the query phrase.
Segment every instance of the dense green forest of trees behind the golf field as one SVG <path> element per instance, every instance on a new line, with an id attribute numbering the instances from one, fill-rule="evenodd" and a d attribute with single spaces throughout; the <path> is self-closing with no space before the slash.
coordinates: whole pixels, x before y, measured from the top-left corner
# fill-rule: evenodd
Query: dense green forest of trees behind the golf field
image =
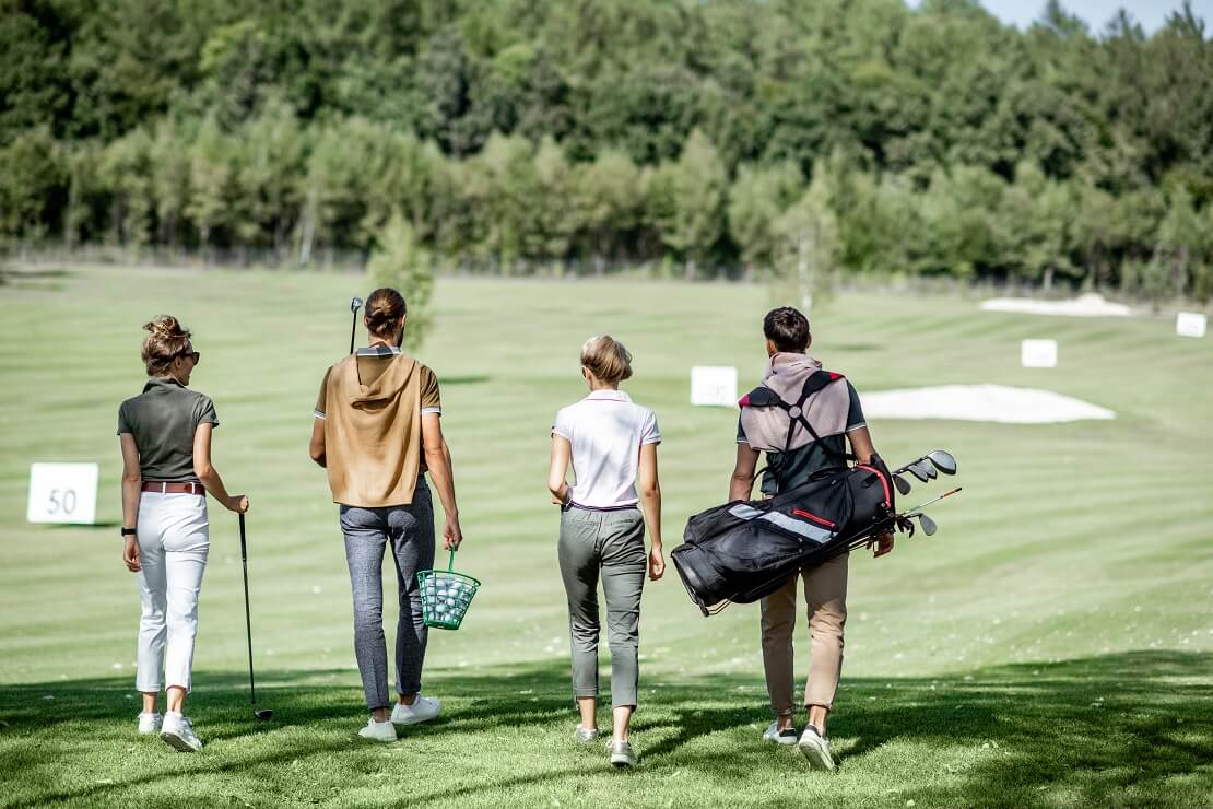
<path id="1" fill-rule="evenodd" d="M 1049 2 L 0 0 L 0 239 L 1206 300 L 1213 41 Z"/>

